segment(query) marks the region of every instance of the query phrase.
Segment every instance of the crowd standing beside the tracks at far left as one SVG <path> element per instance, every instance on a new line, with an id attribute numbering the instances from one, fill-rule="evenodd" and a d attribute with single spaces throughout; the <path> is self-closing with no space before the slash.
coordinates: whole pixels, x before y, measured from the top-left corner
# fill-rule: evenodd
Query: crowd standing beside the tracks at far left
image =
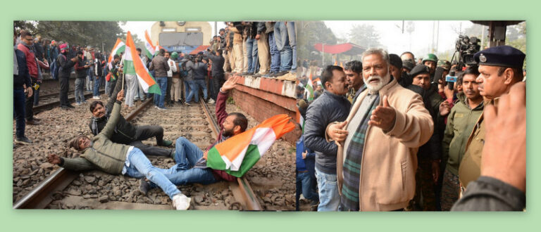
<path id="1" fill-rule="evenodd" d="M 85 86 L 86 91 L 93 93 L 94 99 L 100 98 L 99 88 L 104 86 L 104 74 L 108 72 L 105 65 L 107 60 L 106 52 L 94 51 L 94 48 L 90 46 L 70 47 L 64 41 L 57 42 L 54 39 L 34 37 L 26 30 L 13 31 L 13 44 L 14 54 L 16 55 L 20 51 L 24 55 L 14 56 L 13 58 L 15 63 L 13 67 L 13 77 L 15 78 L 13 83 L 13 112 L 17 125 L 16 142 L 32 143 L 25 136 L 25 126 L 27 124 L 41 124 L 40 119 L 35 117 L 32 108 L 39 104 L 39 90 L 46 75 L 52 79 L 58 79 L 60 84 L 59 98 L 63 109 L 75 108 L 68 101 L 69 78 L 72 73 L 75 73 L 76 77 L 76 105 L 86 103 L 84 97 Z M 19 60 L 15 59 L 15 57 L 18 57 Z M 30 82 L 25 80 L 26 72 Z M 18 77 L 21 78 L 17 79 Z"/>

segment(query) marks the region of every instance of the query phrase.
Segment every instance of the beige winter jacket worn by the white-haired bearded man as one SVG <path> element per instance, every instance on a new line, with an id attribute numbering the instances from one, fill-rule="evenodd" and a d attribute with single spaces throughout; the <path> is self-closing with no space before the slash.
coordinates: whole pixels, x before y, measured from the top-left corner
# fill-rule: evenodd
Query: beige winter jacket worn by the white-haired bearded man
<path id="1" fill-rule="evenodd" d="M 368 90 L 356 99 L 347 122 L 359 110 Z M 368 126 L 361 160 L 359 209 L 361 211 L 399 210 L 408 205 L 415 194 L 415 172 L 418 147 L 433 134 L 433 120 L 423 105 L 423 99 L 397 84 L 396 79 L 379 91 L 380 105 L 387 96 L 396 112 L 394 127 L 387 133 L 379 127 Z M 342 194 L 344 146 L 338 146 L 337 179 Z"/>

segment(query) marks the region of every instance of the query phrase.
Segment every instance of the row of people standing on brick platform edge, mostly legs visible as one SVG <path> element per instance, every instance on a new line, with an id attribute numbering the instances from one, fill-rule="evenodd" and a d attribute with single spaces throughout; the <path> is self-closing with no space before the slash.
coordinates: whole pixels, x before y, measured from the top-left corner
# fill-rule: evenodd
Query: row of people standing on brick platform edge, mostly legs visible
<path id="1" fill-rule="evenodd" d="M 213 51 L 223 51 L 223 70 L 254 77 L 285 77 L 297 72 L 297 35 L 294 21 L 226 22 L 211 40 Z"/>

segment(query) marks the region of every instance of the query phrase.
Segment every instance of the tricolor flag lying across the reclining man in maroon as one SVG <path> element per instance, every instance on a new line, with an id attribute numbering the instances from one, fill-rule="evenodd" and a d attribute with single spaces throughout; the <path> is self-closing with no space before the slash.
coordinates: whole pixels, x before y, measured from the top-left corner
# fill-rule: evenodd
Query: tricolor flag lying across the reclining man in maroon
<path id="1" fill-rule="evenodd" d="M 206 166 L 241 177 L 256 164 L 276 139 L 295 128 L 290 120 L 287 115 L 275 115 L 257 127 L 218 143 L 207 153 Z"/>

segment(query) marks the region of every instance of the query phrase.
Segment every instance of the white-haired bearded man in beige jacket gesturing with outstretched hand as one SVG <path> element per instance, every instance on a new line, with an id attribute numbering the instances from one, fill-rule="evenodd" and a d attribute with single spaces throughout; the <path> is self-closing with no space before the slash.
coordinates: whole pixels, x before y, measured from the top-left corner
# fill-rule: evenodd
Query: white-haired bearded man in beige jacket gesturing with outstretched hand
<path id="1" fill-rule="evenodd" d="M 326 129 L 338 144 L 341 210 L 403 210 L 415 194 L 416 154 L 432 136 L 433 120 L 421 96 L 391 77 L 387 51 L 368 49 L 362 63 L 367 89 L 347 120 Z"/>

